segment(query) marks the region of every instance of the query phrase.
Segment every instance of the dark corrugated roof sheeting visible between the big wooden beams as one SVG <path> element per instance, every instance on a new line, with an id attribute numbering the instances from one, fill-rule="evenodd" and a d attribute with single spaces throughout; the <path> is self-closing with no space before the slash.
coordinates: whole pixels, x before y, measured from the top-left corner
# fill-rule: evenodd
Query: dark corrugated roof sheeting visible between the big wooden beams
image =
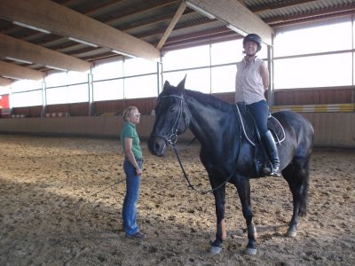
<path id="1" fill-rule="evenodd" d="M 153 45 L 159 43 L 182 3 L 181 0 L 52 1 Z M 251 12 L 274 28 L 293 25 L 300 21 L 351 15 L 355 12 L 354 0 L 244 0 L 242 2 Z M 110 51 L 71 42 L 67 36 L 46 35 L 28 27 L 15 26 L 10 20 L 0 19 L 0 33 L 83 59 L 96 60 L 115 56 Z M 235 35 L 238 36 L 227 29 L 224 22 L 209 20 L 200 12 L 186 7 L 166 44 L 170 49 L 176 49 L 177 46 L 187 47 L 196 43 L 208 43 L 211 40 L 233 38 Z M 162 49 L 164 48 L 163 46 Z"/>

